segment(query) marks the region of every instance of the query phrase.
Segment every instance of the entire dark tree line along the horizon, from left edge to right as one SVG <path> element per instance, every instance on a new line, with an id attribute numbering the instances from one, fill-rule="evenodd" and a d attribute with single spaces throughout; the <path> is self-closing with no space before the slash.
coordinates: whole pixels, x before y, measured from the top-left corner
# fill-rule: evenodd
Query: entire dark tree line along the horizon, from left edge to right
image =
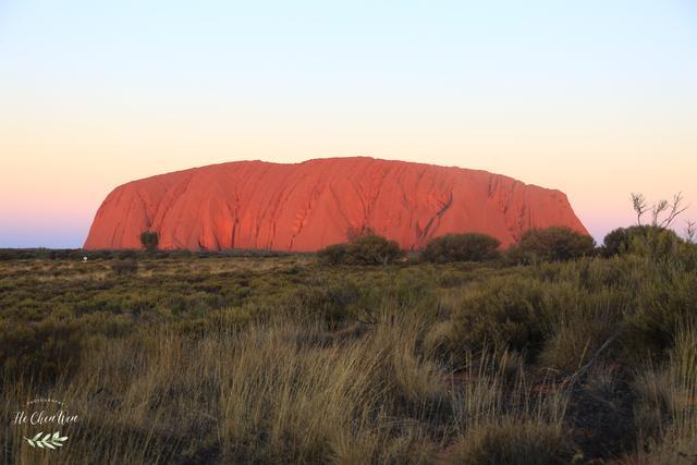
<path id="1" fill-rule="evenodd" d="M 632 205 L 636 213 L 636 224 L 617 228 L 604 236 L 603 244 L 596 243 L 587 234 L 568 228 L 552 227 L 533 229 L 524 232 L 517 243 L 506 250 L 501 242 L 484 233 L 445 234 L 430 240 L 411 256 L 421 261 L 499 261 L 503 265 L 526 265 L 539 261 L 565 261 L 586 256 L 613 257 L 627 253 L 658 258 L 676 250 L 684 245 L 692 245 L 697 235 L 697 224 L 686 222 L 684 237 L 676 234 L 671 227 L 676 218 L 685 211 L 683 197 L 677 194 L 672 201 L 659 200 L 649 205 L 641 194 L 632 194 Z M 648 218 L 648 220 L 646 220 Z M 345 243 L 333 244 L 317 253 L 320 262 L 334 265 L 389 265 L 405 260 L 406 253 L 392 240 L 377 234 L 371 228 L 350 229 Z M 289 253 L 273 250 L 231 249 L 221 252 L 158 250 L 160 237 L 155 231 L 143 231 L 139 235 L 143 248 L 152 257 L 170 256 L 281 256 Z M 136 250 L 82 250 L 82 249 L 0 249 L 0 260 L 11 259 L 120 259 L 136 258 Z M 117 272 L 131 272 L 131 264 L 120 264 Z"/>

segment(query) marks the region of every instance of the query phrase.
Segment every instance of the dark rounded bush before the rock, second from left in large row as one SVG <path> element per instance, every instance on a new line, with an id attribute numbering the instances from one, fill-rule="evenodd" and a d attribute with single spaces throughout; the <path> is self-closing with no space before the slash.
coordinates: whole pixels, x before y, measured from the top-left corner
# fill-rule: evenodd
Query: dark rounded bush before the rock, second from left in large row
<path id="1" fill-rule="evenodd" d="M 421 252 L 426 261 L 486 261 L 497 258 L 501 242 L 487 234 L 445 234 L 431 240 Z"/>

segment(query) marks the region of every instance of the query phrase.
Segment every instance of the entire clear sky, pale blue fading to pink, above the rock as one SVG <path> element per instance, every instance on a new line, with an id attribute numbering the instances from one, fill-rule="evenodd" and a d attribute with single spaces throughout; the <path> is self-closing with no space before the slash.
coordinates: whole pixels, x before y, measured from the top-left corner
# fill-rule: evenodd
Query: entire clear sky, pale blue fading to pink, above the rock
<path id="1" fill-rule="evenodd" d="M 0 247 L 80 247 L 127 181 L 370 156 L 697 220 L 697 2 L 0 0 Z"/>

